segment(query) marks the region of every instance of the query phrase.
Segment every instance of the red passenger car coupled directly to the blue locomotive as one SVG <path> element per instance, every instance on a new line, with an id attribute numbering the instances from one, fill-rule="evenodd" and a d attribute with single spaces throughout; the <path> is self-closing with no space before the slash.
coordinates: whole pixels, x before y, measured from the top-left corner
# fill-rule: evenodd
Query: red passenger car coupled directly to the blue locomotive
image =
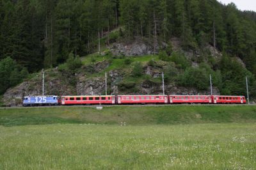
<path id="1" fill-rule="evenodd" d="M 115 96 L 63 96 L 62 105 L 76 104 L 115 104 Z"/>

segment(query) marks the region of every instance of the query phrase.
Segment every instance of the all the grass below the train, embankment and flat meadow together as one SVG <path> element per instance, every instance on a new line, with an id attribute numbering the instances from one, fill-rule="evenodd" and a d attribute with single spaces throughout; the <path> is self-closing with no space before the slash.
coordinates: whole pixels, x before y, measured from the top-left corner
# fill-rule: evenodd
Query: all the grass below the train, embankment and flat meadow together
<path id="1" fill-rule="evenodd" d="M 0 109 L 0 169 L 255 168 L 255 106 Z"/>

